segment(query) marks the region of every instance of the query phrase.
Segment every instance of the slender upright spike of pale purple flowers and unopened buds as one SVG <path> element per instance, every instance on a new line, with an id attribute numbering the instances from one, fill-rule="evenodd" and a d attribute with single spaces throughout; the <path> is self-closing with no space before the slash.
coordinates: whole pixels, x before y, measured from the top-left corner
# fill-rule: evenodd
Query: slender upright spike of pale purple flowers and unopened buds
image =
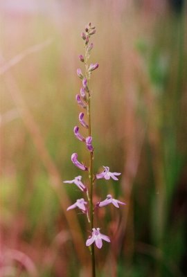
<path id="1" fill-rule="evenodd" d="M 84 196 L 87 197 L 87 201 L 85 201 L 84 198 L 77 199 L 73 205 L 67 208 L 67 211 L 73 208 L 79 208 L 80 211 L 82 211 L 82 213 L 87 215 L 87 219 L 91 227 L 91 236 L 87 239 L 86 245 L 87 247 L 89 247 L 91 244 L 95 242 L 96 247 L 100 249 L 103 246 L 102 240 L 105 240 L 106 242 L 110 242 L 110 239 L 107 235 L 103 235 L 102 233 L 100 233 L 100 228 L 94 228 L 94 209 L 107 206 L 109 204 L 113 204 L 116 208 L 119 208 L 119 204 L 125 205 L 125 203 L 117 199 L 114 199 L 112 195 L 107 195 L 107 198 L 105 200 L 98 202 L 96 204 L 93 204 L 94 181 L 96 181 L 97 179 L 109 180 L 110 178 L 117 181 L 118 180 L 117 176 L 121 175 L 121 173 L 119 172 L 110 172 L 108 166 L 103 166 L 104 168 L 103 172 L 97 173 L 95 175 L 93 172 L 94 146 L 92 145 L 93 138 L 91 136 L 91 115 L 90 115 L 91 91 L 89 89 L 89 80 L 91 78 L 91 73 L 94 70 L 98 69 L 99 65 L 98 63 L 89 64 L 88 60 L 89 60 L 91 50 L 94 47 L 92 43 L 90 44 L 90 37 L 95 33 L 96 33 L 96 28 L 94 26 L 91 26 L 91 23 L 89 23 L 85 27 L 84 33 L 81 34 L 81 37 L 84 41 L 85 53 L 84 55 L 79 55 L 79 60 L 84 64 L 85 71 L 84 73 L 82 73 L 82 70 L 80 68 L 77 69 L 77 75 L 81 80 L 81 88 L 80 88 L 80 93 L 76 95 L 76 100 L 78 102 L 78 105 L 82 109 L 87 111 L 87 114 L 85 115 L 83 111 L 80 112 L 78 116 L 78 120 L 81 126 L 78 127 L 76 125 L 73 129 L 75 138 L 81 141 L 82 143 L 84 143 L 85 149 L 89 153 L 89 157 L 90 157 L 89 166 L 85 166 L 84 163 L 78 161 L 77 153 L 73 153 L 71 155 L 72 163 L 80 170 L 88 172 L 89 186 L 84 184 L 84 181 L 82 181 L 82 176 L 75 177 L 71 181 L 64 181 L 64 183 L 75 184 L 75 186 L 77 186 L 82 191 L 82 193 L 84 193 Z M 84 128 L 85 130 L 87 130 L 88 134 L 86 137 L 82 136 L 81 128 Z"/>

